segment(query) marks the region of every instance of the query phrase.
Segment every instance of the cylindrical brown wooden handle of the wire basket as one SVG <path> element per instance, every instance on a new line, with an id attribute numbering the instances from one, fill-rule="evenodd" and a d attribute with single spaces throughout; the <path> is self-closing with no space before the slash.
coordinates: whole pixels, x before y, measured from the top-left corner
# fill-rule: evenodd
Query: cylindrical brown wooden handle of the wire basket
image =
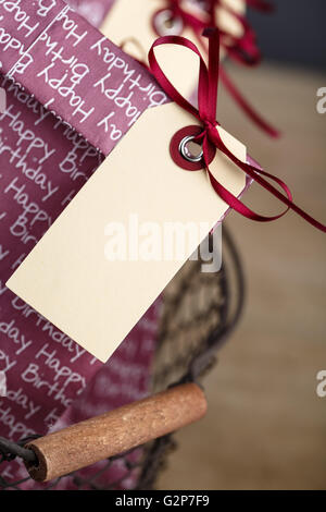
<path id="1" fill-rule="evenodd" d="M 199 386 L 176 386 L 27 443 L 38 460 L 27 471 L 37 481 L 52 480 L 178 430 L 206 409 Z"/>

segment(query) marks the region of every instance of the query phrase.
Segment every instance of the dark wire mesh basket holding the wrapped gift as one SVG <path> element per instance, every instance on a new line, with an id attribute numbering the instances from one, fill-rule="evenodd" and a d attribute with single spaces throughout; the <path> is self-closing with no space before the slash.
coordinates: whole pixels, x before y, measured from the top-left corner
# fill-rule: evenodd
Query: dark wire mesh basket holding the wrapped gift
<path id="1" fill-rule="evenodd" d="M 238 322 L 243 305 L 243 276 L 227 230 L 223 241 L 218 272 L 204 273 L 200 259 L 188 260 L 163 293 L 151 375 L 153 393 L 184 382 L 202 386 L 203 376 L 216 363 L 217 350 Z M 166 435 L 50 483 L 36 484 L 27 473 L 18 481 L 11 477 L 11 464 L 34 462 L 35 453 L 24 448 L 27 441 L 30 438 L 18 442 L 0 438 L 1 490 L 152 489 L 168 453 L 176 447 L 173 435 Z"/>

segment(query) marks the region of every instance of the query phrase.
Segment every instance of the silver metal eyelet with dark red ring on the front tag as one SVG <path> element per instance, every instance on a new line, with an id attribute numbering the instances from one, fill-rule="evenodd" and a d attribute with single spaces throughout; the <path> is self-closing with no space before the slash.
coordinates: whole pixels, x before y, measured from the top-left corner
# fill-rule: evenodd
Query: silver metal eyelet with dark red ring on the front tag
<path id="1" fill-rule="evenodd" d="M 199 151 L 191 151 L 189 143 L 193 142 L 198 135 L 202 133 L 202 126 L 195 124 L 185 126 L 179 130 L 171 139 L 170 143 L 170 155 L 173 161 L 187 171 L 199 171 L 205 168 L 203 160 L 202 147 L 199 147 Z M 199 144 L 197 144 L 199 146 Z M 211 163 L 215 157 L 216 148 L 212 144 L 209 145 L 209 163 Z"/>

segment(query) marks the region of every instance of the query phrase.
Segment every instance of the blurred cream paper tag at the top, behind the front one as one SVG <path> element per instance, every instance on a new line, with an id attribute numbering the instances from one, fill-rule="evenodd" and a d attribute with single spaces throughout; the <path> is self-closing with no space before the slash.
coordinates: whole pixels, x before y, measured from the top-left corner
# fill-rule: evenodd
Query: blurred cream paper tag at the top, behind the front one
<path id="1" fill-rule="evenodd" d="M 243 0 L 223 0 L 223 3 L 235 12 L 244 12 Z M 166 8 L 166 4 L 165 0 L 118 0 L 104 20 L 101 32 L 135 59 L 147 62 L 149 49 L 159 37 L 152 27 L 152 17 L 159 10 Z M 198 15 L 198 7 L 193 0 L 185 0 L 183 7 Z M 235 37 L 242 35 L 241 24 L 223 5 L 217 8 L 217 16 L 218 25 L 226 32 Z M 190 28 L 185 28 L 180 35 L 198 46 Z M 200 47 L 199 49 L 201 50 Z M 176 45 L 165 45 L 162 53 L 160 50 L 160 47 L 156 48 L 155 53 L 160 57 L 162 69 L 167 76 L 173 76 L 174 85 L 183 96 L 190 96 L 195 86 L 193 77 L 198 76 L 198 65 L 192 52 L 185 52 Z M 223 50 L 221 57 L 223 58 Z M 176 62 L 180 65 L 176 65 Z"/>

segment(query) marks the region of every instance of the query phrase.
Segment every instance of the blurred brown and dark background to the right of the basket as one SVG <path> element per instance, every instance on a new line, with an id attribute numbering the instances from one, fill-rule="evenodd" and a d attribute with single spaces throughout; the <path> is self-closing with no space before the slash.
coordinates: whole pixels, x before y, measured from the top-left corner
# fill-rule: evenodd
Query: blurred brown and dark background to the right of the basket
<path id="1" fill-rule="evenodd" d="M 241 92 L 281 131 L 268 139 L 221 90 L 218 118 L 294 200 L 326 222 L 326 3 L 278 0 L 277 11 L 250 11 L 264 63 L 228 70 Z M 264 214 L 279 204 L 258 186 L 247 204 Z M 209 414 L 177 436 L 179 450 L 161 489 L 325 489 L 326 237 L 294 214 L 259 224 L 227 219 L 247 279 L 247 304 L 236 333 L 206 379 Z"/>

